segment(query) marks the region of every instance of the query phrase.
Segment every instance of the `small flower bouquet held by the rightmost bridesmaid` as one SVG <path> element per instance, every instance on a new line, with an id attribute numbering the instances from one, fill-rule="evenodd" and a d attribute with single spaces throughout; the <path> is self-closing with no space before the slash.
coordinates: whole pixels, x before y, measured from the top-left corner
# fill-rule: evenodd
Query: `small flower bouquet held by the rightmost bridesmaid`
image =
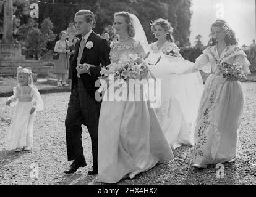
<path id="1" fill-rule="evenodd" d="M 242 65 L 240 63 L 226 63 L 223 62 L 220 67 L 220 74 L 223 75 L 223 78 L 226 78 L 227 76 L 236 79 L 237 81 L 244 81 L 245 74 L 242 70 Z"/>

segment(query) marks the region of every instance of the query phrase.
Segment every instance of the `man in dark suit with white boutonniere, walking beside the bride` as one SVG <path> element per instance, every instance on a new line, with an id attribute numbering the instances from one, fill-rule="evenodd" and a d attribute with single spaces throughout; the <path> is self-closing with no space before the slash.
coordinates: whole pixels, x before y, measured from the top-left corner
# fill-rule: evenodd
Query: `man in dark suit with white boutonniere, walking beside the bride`
<path id="1" fill-rule="evenodd" d="M 82 39 L 75 44 L 72 59 L 72 89 L 67 108 L 66 142 L 67 159 L 74 160 L 66 174 L 74 173 L 87 165 L 82 147 L 82 124 L 87 126 L 92 142 L 93 168 L 88 174 L 98 174 L 98 123 L 101 102 L 95 100 L 95 82 L 100 76 L 100 64 L 110 63 L 110 47 L 106 39 L 92 31 L 95 15 L 90 10 L 75 14 L 75 26 Z"/>

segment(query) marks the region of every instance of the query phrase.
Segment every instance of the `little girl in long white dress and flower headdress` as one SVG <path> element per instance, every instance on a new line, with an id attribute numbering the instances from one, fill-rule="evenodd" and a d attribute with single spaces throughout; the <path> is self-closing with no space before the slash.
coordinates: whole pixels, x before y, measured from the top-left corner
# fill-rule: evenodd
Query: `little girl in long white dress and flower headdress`
<path id="1" fill-rule="evenodd" d="M 43 100 L 33 84 L 32 71 L 18 68 L 17 87 L 14 95 L 7 99 L 6 105 L 16 106 L 12 116 L 6 150 L 16 152 L 31 150 L 33 144 L 33 123 L 36 111 L 43 109 Z"/>

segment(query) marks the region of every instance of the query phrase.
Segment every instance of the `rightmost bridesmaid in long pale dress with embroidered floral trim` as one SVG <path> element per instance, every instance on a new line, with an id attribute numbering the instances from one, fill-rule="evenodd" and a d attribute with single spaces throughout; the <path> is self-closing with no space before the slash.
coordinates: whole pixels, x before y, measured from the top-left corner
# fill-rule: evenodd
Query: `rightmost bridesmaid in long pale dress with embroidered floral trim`
<path id="1" fill-rule="evenodd" d="M 224 20 L 211 25 L 211 35 L 213 43 L 197 58 L 194 69 L 211 73 L 205 82 L 195 127 L 193 166 L 197 168 L 236 159 L 244 93 L 239 81 L 218 74 L 220 65 L 239 63 L 244 74 L 250 74 L 250 63 Z"/>

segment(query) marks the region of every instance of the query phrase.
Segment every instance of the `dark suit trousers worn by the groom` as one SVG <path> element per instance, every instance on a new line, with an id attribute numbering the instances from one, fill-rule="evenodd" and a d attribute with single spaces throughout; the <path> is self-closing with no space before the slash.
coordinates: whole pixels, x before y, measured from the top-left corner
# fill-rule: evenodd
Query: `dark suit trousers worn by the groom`
<path id="1" fill-rule="evenodd" d="M 98 122 L 101 102 L 96 102 L 77 79 L 69 98 L 67 108 L 66 142 L 67 159 L 81 161 L 84 159 L 82 147 L 82 124 L 87 126 L 92 142 L 93 168 L 98 169 Z"/>

